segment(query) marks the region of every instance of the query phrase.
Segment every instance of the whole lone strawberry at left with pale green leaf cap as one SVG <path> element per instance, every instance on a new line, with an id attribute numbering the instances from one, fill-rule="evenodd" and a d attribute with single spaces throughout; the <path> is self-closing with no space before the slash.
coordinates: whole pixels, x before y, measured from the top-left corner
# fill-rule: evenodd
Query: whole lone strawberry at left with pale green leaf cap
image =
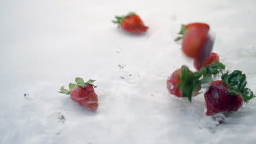
<path id="1" fill-rule="evenodd" d="M 95 80 L 89 80 L 84 82 L 83 79 L 77 77 L 75 78 L 77 84 L 69 83 L 69 90 L 62 86 L 60 93 L 69 94 L 71 99 L 79 105 L 88 110 L 95 111 L 98 108 L 98 97 L 94 91 L 94 85 L 92 85 L 94 81 Z"/>

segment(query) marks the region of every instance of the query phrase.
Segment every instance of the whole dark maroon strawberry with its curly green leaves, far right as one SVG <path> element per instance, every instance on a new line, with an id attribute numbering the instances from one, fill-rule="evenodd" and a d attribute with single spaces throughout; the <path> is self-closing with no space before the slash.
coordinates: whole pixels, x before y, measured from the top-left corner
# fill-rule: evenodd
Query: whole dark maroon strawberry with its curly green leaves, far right
<path id="1" fill-rule="evenodd" d="M 245 88 L 246 75 L 235 70 L 231 74 L 224 74 L 222 80 L 213 81 L 205 93 L 206 115 L 211 116 L 218 112 L 237 111 L 248 100 L 255 97 L 251 89 Z"/>

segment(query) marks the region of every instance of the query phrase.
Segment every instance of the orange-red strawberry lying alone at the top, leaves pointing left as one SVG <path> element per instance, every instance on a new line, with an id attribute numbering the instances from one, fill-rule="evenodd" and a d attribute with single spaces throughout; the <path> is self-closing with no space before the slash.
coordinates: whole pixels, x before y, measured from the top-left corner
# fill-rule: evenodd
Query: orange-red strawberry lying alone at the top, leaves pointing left
<path id="1" fill-rule="evenodd" d="M 141 18 L 135 13 L 129 13 L 126 16 L 115 16 L 117 21 L 113 21 L 118 24 L 118 27 L 121 26 L 126 32 L 133 34 L 142 34 L 147 31 L 148 27 L 144 25 Z"/>

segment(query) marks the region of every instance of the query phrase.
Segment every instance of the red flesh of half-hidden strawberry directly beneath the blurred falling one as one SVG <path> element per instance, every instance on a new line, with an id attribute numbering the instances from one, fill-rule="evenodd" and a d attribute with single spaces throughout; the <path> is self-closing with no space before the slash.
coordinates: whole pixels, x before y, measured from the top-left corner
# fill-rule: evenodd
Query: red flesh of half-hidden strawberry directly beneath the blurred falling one
<path id="1" fill-rule="evenodd" d="M 196 70 L 200 70 L 202 67 L 208 67 L 210 64 L 214 62 L 219 62 L 219 56 L 217 53 L 212 52 L 209 57 L 203 60 L 203 62 L 200 62 L 197 59 L 195 59 L 194 67 Z"/>

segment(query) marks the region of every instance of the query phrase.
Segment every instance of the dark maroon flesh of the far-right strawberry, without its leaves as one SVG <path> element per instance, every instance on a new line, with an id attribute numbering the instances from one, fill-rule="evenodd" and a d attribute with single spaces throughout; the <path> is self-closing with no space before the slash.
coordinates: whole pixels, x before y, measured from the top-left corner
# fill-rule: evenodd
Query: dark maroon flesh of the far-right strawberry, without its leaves
<path id="1" fill-rule="evenodd" d="M 241 93 L 232 95 L 228 92 L 228 85 L 223 81 L 214 81 L 205 93 L 206 115 L 211 116 L 218 112 L 237 111 L 243 105 Z"/>

